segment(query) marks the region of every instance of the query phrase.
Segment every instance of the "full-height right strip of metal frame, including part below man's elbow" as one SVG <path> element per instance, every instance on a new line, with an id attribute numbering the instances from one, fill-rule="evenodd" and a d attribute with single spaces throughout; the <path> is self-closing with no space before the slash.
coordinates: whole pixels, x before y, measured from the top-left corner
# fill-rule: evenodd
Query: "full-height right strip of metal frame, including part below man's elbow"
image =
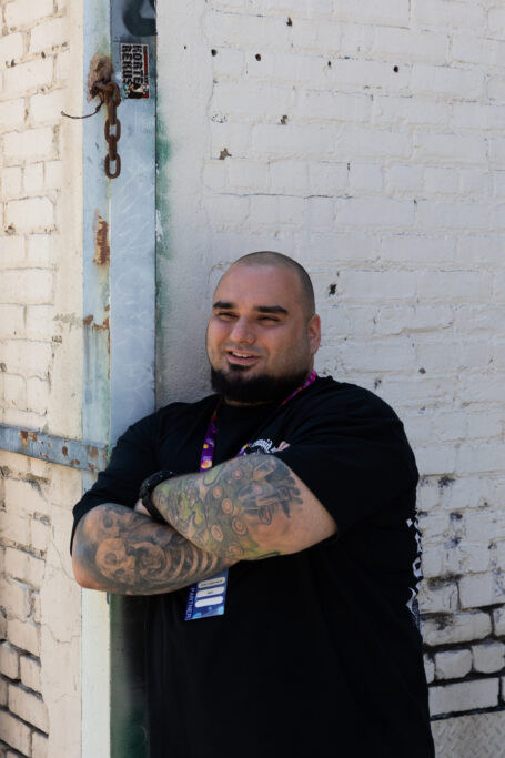
<path id="1" fill-rule="evenodd" d="M 155 406 L 154 34 L 153 0 L 112 0 L 111 55 L 122 101 L 118 108 L 121 174 L 110 186 L 111 441 Z M 114 758 L 148 754 L 143 657 L 139 656 L 145 641 L 142 605 L 141 597 L 111 597 Z"/>

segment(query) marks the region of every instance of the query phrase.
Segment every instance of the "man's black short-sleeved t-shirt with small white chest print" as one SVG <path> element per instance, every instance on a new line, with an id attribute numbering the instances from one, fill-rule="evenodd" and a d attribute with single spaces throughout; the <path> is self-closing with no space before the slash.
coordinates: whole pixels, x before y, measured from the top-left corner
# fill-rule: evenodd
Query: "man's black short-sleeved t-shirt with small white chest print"
<path id="1" fill-rule="evenodd" d="M 199 469 L 216 396 L 131 426 L 74 508 L 132 507 L 149 474 Z M 230 569 L 223 616 L 184 621 L 188 589 L 147 604 L 153 758 L 431 758 L 413 613 L 417 472 L 402 423 L 332 378 L 282 407 L 223 405 L 214 464 L 277 455 L 337 523 L 336 538 Z M 281 452 L 282 442 L 290 447 Z"/>

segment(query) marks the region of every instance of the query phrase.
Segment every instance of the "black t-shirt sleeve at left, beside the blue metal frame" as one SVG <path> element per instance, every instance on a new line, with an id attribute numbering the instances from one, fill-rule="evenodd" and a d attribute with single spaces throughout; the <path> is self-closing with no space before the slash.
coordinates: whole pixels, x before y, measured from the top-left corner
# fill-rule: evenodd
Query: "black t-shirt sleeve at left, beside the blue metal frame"
<path id="1" fill-rule="evenodd" d="M 156 455 L 155 414 L 130 426 L 119 437 L 109 465 L 100 472 L 94 485 L 73 507 L 73 528 L 80 518 L 103 503 L 117 503 L 133 508 L 142 482 L 160 468 Z"/>

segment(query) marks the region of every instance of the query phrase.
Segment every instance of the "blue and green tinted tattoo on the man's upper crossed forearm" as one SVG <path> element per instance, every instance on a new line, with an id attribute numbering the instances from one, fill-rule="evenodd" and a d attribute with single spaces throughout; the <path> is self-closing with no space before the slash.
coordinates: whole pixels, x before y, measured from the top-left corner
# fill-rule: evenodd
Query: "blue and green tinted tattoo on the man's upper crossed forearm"
<path id="1" fill-rule="evenodd" d="M 279 555 L 272 546 L 302 503 L 290 468 L 273 455 L 233 458 L 203 474 L 163 482 L 152 496 L 180 534 L 234 560 Z"/>

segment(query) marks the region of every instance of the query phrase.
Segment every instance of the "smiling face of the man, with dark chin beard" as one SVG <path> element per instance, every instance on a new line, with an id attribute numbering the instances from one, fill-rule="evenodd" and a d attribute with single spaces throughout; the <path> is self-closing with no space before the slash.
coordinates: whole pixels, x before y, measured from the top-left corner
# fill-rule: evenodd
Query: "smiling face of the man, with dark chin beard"
<path id="1" fill-rule="evenodd" d="M 282 400 L 309 375 L 320 337 L 320 319 L 307 321 L 294 272 L 232 266 L 215 291 L 206 333 L 214 387 L 236 404 Z"/>

